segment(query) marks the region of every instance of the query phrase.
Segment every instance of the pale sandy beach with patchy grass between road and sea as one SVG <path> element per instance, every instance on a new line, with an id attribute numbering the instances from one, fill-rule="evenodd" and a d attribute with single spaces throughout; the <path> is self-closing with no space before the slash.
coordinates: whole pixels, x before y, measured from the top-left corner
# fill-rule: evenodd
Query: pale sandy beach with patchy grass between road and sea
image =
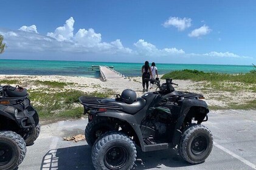
<path id="1" fill-rule="evenodd" d="M 35 81 L 55 81 L 60 83 L 66 83 L 64 89 L 60 90 L 80 90 L 87 93 L 105 92 L 106 90 L 112 90 L 112 97 L 115 97 L 114 94 L 121 94 L 124 89 L 133 89 L 136 92 L 137 97 L 140 97 L 144 94 L 142 92 L 141 77 L 128 77 L 126 79 L 119 78 L 102 81 L 100 80 L 100 78 L 67 77 L 59 75 L 0 75 L 0 81 L 1 80 L 16 80 L 20 86 L 26 87 L 28 90 L 56 90 L 43 84 L 34 83 Z M 163 83 L 164 80 L 161 80 L 161 82 Z M 247 90 L 237 92 L 215 91 L 210 89 L 209 87 L 205 87 L 204 85 L 207 84 L 205 82 L 194 82 L 190 80 L 173 80 L 173 82 L 179 84 L 179 86 L 175 86 L 176 90 L 203 94 L 209 106 L 225 107 L 229 103 L 243 103 L 245 101 L 253 100 L 256 95 L 255 92 L 250 92 Z M 5 84 L 2 83 L 1 85 Z M 16 84 L 10 85 L 15 86 Z M 156 90 L 156 85 L 154 85 L 153 89 L 149 89 L 149 91 L 151 92 L 154 90 Z M 47 93 L 47 90 L 45 92 Z"/>

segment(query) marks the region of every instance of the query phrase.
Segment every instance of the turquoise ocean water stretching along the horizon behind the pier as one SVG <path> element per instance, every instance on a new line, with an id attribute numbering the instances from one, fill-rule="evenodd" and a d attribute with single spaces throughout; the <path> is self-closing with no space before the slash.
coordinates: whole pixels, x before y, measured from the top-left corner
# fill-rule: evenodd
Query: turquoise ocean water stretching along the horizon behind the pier
<path id="1" fill-rule="evenodd" d="M 38 60 L 0 60 L 1 75 L 66 75 L 81 77 L 100 77 L 95 66 L 114 66 L 114 69 L 126 77 L 141 75 L 144 63 L 106 63 L 87 61 L 38 61 Z M 247 73 L 252 66 L 210 65 L 210 64 L 161 64 L 156 63 L 159 74 L 173 70 L 196 69 L 204 72 Z"/>

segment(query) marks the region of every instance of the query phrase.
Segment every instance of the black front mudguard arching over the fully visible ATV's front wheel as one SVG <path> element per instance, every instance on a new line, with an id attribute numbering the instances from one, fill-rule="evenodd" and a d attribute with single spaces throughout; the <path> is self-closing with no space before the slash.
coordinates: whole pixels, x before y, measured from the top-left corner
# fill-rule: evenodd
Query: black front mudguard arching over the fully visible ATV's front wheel
<path id="1" fill-rule="evenodd" d="M 177 120 L 177 123 L 175 126 L 175 132 L 173 134 L 173 141 L 172 141 L 173 147 L 175 147 L 176 144 L 178 144 L 178 142 L 179 142 L 179 138 L 182 135 L 182 132 L 180 131 L 182 123 L 184 122 L 185 117 L 189 113 L 191 107 L 203 107 L 206 109 L 206 116 L 209 113 L 209 109 L 206 104 L 206 101 L 197 100 L 195 98 L 182 101 L 181 110 L 179 113 L 179 115 L 181 115 L 181 116 Z"/>

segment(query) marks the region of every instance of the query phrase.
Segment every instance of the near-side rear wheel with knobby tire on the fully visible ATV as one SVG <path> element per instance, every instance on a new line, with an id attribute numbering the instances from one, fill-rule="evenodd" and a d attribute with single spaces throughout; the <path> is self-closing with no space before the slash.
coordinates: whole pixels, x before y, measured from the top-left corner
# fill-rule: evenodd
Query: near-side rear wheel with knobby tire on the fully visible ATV
<path id="1" fill-rule="evenodd" d="M 122 132 L 108 132 L 92 148 L 92 163 L 96 170 L 129 170 L 137 157 L 130 137 Z"/>

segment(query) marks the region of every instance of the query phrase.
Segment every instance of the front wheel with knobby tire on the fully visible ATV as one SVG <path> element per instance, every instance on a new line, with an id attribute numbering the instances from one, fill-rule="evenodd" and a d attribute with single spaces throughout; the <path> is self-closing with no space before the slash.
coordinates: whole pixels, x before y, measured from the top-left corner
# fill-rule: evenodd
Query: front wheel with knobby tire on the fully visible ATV
<path id="1" fill-rule="evenodd" d="M 202 124 L 186 127 L 179 140 L 179 154 L 192 164 L 201 163 L 210 155 L 213 138 L 210 130 Z"/>

